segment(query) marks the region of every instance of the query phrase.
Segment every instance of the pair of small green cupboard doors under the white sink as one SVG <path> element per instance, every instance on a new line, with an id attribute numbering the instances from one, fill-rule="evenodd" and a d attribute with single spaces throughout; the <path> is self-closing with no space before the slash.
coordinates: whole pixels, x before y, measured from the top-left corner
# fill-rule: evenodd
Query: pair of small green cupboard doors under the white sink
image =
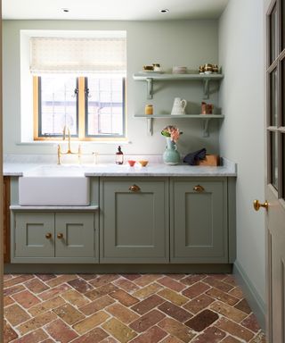
<path id="1" fill-rule="evenodd" d="M 19 263 L 94 263 L 94 213 L 15 212 Z"/>

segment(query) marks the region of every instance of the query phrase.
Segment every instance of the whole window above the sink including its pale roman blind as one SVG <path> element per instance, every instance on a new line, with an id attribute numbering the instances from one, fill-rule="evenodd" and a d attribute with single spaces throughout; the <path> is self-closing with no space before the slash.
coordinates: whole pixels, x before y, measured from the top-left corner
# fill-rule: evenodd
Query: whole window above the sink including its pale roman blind
<path id="1" fill-rule="evenodd" d="M 79 140 L 125 138 L 126 37 L 34 37 L 30 46 L 34 140 L 56 140 L 64 127 Z"/>

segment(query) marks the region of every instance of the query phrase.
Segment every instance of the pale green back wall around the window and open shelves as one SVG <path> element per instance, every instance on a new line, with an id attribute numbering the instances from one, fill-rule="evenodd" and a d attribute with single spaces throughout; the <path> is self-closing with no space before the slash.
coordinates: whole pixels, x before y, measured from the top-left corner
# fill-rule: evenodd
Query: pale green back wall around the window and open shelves
<path id="1" fill-rule="evenodd" d="M 216 63 L 218 59 L 217 21 L 4 21 L 4 153 L 53 154 L 55 146 L 27 146 L 20 142 L 20 29 L 126 29 L 127 31 L 127 138 L 132 144 L 124 146 L 126 153 L 161 154 L 165 139 L 160 130 L 175 121 L 159 120 L 154 135 L 146 134 L 146 122 L 134 119 L 144 105 L 152 103 L 156 111 L 170 112 L 175 96 L 188 100 L 188 109 L 197 113 L 202 101 L 201 87 L 187 82 L 159 83 L 153 101 L 146 100 L 144 82 L 134 82 L 132 74 L 143 64 L 160 63 L 163 68 L 185 65 L 196 69 L 201 63 Z M 217 105 L 217 96 L 211 99 Z M 210 138 L 202 138 L 201 122 L 179 120 L 177 126 L 184 134 L 179 150 L 188 153 L 206 146 L 218 153 L 217 123 L 211 123 Z M 83 146 L 112 154 L 114 145 Z"/>

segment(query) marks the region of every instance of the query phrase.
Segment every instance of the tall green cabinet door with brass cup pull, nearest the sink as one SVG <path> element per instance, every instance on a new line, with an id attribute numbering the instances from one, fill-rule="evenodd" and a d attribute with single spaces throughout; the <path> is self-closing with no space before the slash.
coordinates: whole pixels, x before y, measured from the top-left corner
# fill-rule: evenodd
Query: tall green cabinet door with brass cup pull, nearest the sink
<path id="1" fill-rule="evenodd" d="M 166 179 L 101 181 L 102 263 L 169 262 L 167 187 Z"/>

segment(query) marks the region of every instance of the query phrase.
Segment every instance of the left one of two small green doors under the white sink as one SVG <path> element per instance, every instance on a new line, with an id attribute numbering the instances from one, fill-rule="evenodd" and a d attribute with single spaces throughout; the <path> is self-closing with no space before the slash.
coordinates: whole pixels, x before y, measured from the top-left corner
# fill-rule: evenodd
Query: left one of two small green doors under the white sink
<path id="1" fill-rule="evenodd" d="M 54 214 L 15 213 L 15 256 L 54 256 Z"/>

